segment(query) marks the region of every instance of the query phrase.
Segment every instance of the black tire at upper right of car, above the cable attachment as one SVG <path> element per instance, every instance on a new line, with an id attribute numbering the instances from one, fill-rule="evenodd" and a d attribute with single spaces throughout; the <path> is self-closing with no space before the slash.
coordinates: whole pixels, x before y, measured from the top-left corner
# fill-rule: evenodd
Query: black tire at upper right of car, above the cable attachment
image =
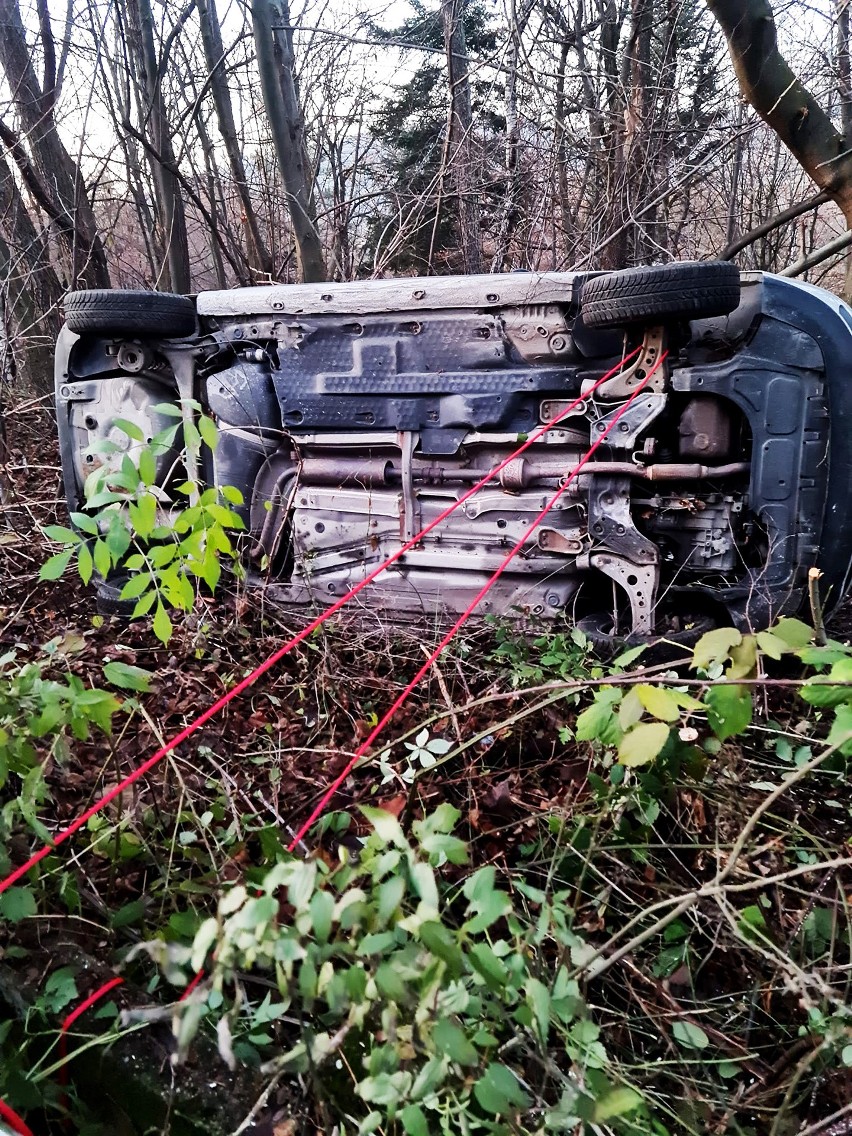
<path id="1" fill-rule="evenodd" d="M 682 261 L 593 276 L 583 285 L 587 327 L 625 327 L 727 316 L 740 303 L 740 269 L 727 260 Z"/>

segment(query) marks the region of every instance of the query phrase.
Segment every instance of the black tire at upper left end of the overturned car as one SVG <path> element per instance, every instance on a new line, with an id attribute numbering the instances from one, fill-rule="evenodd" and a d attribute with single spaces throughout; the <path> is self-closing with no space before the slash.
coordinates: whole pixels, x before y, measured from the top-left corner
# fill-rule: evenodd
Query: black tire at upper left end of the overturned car
<path id="1" fill-rule="evenodd" d="M 195 304 L 173 292 L 92 289 L 66 295 L 65 321 L 73 332 L 181 339 L 195 331 Z"/>

